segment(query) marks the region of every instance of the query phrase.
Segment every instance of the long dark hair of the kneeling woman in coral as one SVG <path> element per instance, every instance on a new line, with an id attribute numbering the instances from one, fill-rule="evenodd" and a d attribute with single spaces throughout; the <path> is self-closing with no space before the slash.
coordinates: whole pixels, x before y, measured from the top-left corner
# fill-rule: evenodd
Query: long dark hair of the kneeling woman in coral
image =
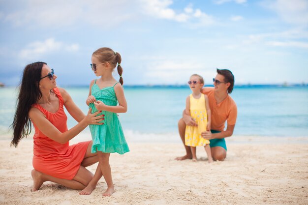
<path id="1" fill-rule="evenodd" d="M 13 129 L 13 140 L 11 146 L 17 146 L 21 139 L 27 137 L 31 132 L 31 120 L 29 111 L 31 105 L 38 102 L 42 93 L 39 90 L 39 81 L 41 71 L 46 62 L 33 62 L 24 69 L 19 94 L 17 98 L 17 107 L 11 128 Z"/>

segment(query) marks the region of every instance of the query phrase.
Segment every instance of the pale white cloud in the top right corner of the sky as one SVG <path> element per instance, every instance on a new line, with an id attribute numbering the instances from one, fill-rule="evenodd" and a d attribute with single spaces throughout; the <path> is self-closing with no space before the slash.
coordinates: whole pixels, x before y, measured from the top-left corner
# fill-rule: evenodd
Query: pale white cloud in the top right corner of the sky
<path id="1" fill-rule="evenodd" d="M 265 0 L 262 5 L 277 12 L 287 23 L 308 25 L 307 0 Z"/>

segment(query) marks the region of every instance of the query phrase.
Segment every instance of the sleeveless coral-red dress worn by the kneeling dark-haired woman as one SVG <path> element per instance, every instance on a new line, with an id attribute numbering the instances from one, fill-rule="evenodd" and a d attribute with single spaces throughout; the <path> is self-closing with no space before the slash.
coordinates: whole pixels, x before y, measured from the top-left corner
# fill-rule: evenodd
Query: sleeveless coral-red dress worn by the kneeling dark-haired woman
<path id="1" fill-rule="evenodd" d="M 58 88 L 53 90 L 59 98 L 59 110 L 56 113 L 50 113 L 38 104 L 34 104 L 32 107 L 40 110 L 63 133 L 67 131 L 67 117 L 63 109 L 63 98 Z M 73 179 L 79 170 L 91 141 L 71 146 L 69 146 L 69 142 L 61 144 L 48 138 L 34 123 L 33 125 L 35 129 L 33 136 L 33 168 L 41 173 L 57 178 Z"/>

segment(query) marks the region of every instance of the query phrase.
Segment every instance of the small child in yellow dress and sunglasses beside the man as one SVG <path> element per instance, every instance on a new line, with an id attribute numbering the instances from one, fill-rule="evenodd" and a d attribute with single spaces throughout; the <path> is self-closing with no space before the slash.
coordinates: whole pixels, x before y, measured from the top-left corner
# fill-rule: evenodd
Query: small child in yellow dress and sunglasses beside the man
<path id="1" fill-rule="evenodd" d="M 211 130 L 211 110 L 209 98 L 201 93 L 204 85 L 202 76 L 193 74 L 188 81 L 192 93 L 186 98 L 185 114 L 190 115 L 198 126 L 186 126 L 185 145 L 190 146 L 192 161 L 197 161 L 196 146 L 204 146 L 209 163 L 213 162 L 210 141 L 201 137 L 201 133 Z"/>

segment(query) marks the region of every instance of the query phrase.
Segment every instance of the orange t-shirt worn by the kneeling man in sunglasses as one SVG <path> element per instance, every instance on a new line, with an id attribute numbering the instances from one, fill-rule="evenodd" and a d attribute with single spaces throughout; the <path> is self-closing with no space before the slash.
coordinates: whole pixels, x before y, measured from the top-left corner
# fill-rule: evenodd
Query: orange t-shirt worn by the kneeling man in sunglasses
<path id="1" fill-rule="evenodd" d="M 209 104 L 212 114 L 212 130 L 223 131 L 226 120 L 228 125 L 235 125 L 238 111 L 236 104 L 230 95 L 228 95 L 219 104 L 216 104 L 214 88 L 202 88 L 202 93 L 209 97 Z"/>

